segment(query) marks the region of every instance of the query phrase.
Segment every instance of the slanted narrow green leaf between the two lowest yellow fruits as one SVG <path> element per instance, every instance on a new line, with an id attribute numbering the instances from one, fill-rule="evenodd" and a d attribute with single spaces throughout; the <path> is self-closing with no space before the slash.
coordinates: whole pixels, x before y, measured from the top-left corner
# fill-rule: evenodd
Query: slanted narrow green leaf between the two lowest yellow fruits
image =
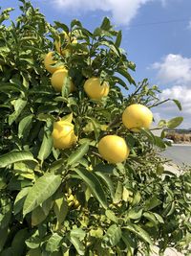
<path id="1" fill-rule="evenodd" d="M 78 160 L 80 160 L 84 154 L 87 153 L 89 150 L 90 142 L 83 143 L 74 153 L 72 153 L 68 158 L 68 165 L 72 166 L 74 163 L 76 163 Z"/>

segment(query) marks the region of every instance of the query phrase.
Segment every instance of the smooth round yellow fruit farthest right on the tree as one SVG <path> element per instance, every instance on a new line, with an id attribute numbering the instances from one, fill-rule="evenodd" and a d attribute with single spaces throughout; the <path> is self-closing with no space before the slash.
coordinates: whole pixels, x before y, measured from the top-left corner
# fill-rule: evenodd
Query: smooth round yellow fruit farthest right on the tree
<path id="1" fill-rule="evenodd" d="M 139 128 L 150 128 L 152 121 L 153 114 L 145 105 L 129 105 L 122 114 L 123 125 L 133 131 L 138 131 Z"/>

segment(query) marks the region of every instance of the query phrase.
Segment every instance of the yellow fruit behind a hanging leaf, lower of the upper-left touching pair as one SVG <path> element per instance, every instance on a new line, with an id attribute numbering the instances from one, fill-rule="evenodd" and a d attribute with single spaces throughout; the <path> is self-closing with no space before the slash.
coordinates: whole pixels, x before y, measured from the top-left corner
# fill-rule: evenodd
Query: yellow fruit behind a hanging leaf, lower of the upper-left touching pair
<path id="1" fill-rule="evenodd" d="M 53 73 L 51 83 L 56 91 L 62 90 L 64 80 L 68 77 L 68 70 L 66 68 L 59 69 Z M 70 92 L 74 91 L 74 83 L 70 80 Z"/>

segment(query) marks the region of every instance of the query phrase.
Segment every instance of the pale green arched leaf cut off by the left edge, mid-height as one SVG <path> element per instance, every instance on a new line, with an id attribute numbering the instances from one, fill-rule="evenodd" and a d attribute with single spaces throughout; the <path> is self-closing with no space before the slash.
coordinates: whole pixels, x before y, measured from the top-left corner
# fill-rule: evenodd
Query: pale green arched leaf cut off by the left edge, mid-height
<path id="1" fill-rule="evenodd" d="M 0 156 L 0 168 L 4 168 L 20 161 L 34 161 L 33 155 L 29 151 L 11 151 Z"/>

